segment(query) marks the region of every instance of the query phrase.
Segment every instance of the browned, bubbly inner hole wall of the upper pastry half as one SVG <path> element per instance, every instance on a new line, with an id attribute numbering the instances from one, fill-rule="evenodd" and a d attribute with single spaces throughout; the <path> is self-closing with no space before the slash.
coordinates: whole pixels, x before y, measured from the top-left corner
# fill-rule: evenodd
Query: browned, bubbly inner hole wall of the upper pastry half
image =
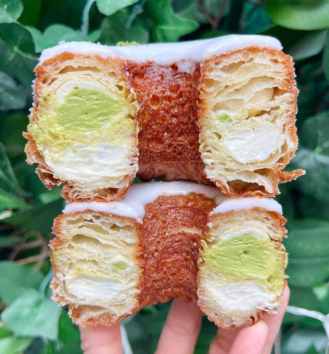
<path id="1" fill-rule="evenodd" d="M 196 98 L 200 69 L 191 75 L 152 62 L 128 63 L 128 81 L 139 112 L 138 176 L 145 181 L 191 179 L 213 184 L 203 173 Z"/>

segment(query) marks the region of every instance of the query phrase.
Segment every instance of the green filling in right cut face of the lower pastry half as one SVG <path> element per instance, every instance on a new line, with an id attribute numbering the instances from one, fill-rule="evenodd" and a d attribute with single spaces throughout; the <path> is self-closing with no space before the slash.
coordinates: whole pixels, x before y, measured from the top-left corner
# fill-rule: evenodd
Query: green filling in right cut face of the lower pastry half
<path id="1" fill-rule="evenodd" d="M 202 242 L 203 243 L 203 242 Z M 251 233 L 219 241 L 210 248 L 203 243 L 204 266 L 230 281 L 252 280 L 280 292 L 283 288 L 283 246 Z M 202 269 L 202 268 L 201 268 Z"/>

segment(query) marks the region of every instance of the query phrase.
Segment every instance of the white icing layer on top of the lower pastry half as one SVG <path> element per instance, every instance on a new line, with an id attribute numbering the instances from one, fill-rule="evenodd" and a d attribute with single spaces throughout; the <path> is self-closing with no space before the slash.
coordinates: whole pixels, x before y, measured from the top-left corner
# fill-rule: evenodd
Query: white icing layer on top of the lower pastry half
<path id="1" fill-rule="evenodd" d="M 281 205 L 271 198 L 232 198 L 216 187 L 202 185 L 194 182 L 149 182 L 132 184 L 124 199 L 113 202 L 74 202 L 67 204 L 64 213 L 73 213 L 93 210 L 112 213 L 119 216 L 141 219 L 145 215 L 145 206 L 155 201 L 159 196 L 188 195 L 190 193 L 203 194 L 214 198 L 218 205 L 210 215 L 225 213 L 231 210 L 246 210 L 260 207 L 282 214 Z"/>

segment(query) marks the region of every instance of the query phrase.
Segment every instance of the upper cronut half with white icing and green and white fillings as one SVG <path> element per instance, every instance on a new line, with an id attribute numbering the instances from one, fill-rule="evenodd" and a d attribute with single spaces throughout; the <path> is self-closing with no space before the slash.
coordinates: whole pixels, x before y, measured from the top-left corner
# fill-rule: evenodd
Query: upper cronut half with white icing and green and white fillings
<path id="1" fill-rule="evenodd" d="M 301 170 L 291 57 L 258 35 L 148 45 L 62 43 L 35 68 L 27 162 L 68 201 L 190 179 L 231 196 L 273 196 Z"/>

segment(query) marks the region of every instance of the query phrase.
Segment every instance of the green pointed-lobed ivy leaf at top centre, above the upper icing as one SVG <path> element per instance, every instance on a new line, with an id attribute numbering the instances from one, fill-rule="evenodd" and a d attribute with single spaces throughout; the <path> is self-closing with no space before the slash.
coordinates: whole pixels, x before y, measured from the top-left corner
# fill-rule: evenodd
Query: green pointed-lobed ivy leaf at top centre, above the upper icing
<path id="1" fill-rule="evenodd" d="M 145 7 L 154 22 L 151 30 L 151 39 L 154 42 L 174 42 L 199 27 L 192 17 L 175 15 L 169 0 L 149 0 Z"/>

